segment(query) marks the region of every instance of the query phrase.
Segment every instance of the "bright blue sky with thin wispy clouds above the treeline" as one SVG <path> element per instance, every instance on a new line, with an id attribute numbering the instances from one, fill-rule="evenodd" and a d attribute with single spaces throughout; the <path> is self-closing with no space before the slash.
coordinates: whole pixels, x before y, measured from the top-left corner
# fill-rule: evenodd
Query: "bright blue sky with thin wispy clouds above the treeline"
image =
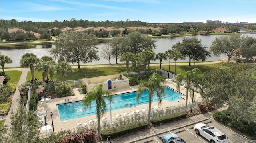
<path id="1" fill-rule="evenodd" d="M 256 0 L 0 0 L 0 19 L 256 23 Z"/>

